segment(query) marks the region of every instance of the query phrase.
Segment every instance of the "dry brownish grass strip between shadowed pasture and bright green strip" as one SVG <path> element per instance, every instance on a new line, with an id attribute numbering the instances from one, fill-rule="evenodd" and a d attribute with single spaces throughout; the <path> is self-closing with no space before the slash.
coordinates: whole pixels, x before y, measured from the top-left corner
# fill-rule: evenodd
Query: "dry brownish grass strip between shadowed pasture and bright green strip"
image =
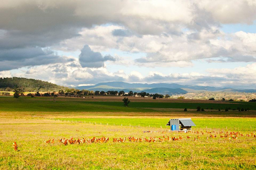
<path id="1" fill-rule="evenodd" d="M 256 111 L 238 112 L 219 112 L 206 110 L 205 112 L 196 112 L 193 109 L 188 109 L 184 112 L 183 109 L 168 109 L 168 108 L 151 108 L 159 112 L 1 112 L 0 118 L 5 118 L 6 116 L 12 118 L 19 117 L 104 117 L 104 116 L 117 116 L 117 117 L 247 117 L 255 118 Z M 164 111 L 164 112 L 162 112 Z"/>

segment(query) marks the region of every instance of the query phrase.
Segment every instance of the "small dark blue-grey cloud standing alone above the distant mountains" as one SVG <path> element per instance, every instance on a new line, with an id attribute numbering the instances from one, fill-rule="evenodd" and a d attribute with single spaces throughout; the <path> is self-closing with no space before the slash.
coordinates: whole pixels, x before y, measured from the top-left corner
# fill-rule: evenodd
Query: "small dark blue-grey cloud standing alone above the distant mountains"
<path id="1" fill-rule="evenodd" d="M 82 67 L 99 68 L 104 66 L 104 61 L 116 61 L 116 58 L 107 55 L 102 56 L 100 52 L 94 52 L 88 45 L 84 45 L 79 55 L 79 62 Z"/>

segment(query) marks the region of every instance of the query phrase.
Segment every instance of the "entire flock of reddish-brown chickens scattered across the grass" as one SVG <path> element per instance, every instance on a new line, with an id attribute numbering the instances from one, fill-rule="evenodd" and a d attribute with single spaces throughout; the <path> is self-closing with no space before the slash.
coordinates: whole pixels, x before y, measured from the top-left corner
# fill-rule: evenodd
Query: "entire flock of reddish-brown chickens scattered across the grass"
<path id="1" fill-rule="evenodd" d="M 162 132 L 162 133 L 166 133 L 166 132 Z M 200 134 L 204 135 L 204 132 L 199 132 L 199 131 L 190 131 L 190 132 L 185 132 L 185 133 L 194 133 L 197 135 L 197 137 L 194 137 L 194 141 L 197 141 L 198 139 L 200 139 L 201 137 L 199 136 Z M 217 135 L 216 134 L 219 134 L 220 135 L 220 138 L 225 138 L 226 140 L 230 140 L 231 138 L 236 140 L 239 136 L 244 136 L 241 132 L 209 132 L 209 131 L 206 131 L 206 134 L 210 134 L 209 136 L 206 137 L 206 139 L 208 140 L 209 138 L 216 138 Z M 249 134 L 246 134 L 247 137 L 254 137 L 256 138 L 256 135 L 254 133 L 249 133 Z M 191 138 L 190 135 L 187 135 L 187 138 Z M 163 136 L 163 138 L 155 138 L 155 137 L 149 137 L 148 139 L 147 138 L 135 138 L 135 137 L 131 137 L 129 136 L 128 137 L 128 141 L 129 142 L 148 142 L 148 143 L 155 143 L 156 141 L 159 141 L 159 142 L 167 142 L 167 141 L 178 141 L 178 140 L 181 140 L 182 137 L 179 136 L 179 137 L 169 137 L 169 136 Z M 83 139 L 74 139 L 74 138 L 70 138 L 70 139 L 59 139 L 58 142 L 59 143 L 63 143 L 64 145 L 70 145 L 70 144 L 81 144 L 81 143 L 106 143 L 109 141 L 109 138 L 107 137 L 101 137 L 101 138 L 96 138 L 96 137 L 93 137 L 93 138 L 89 138 L 89 139 L 86 139 L 86 138 L 83 138 Z M 126 141 L 126 137 L 124 139 L 122 138 L 113 138 L 113 142 L 114 143 L 124 143 Z M 45 143 L 48 143 L 48 144 L 54 144 L 54 139 L 50 139 L 50 140 L 47 140 L 47 141 L 44 141 Z M 18 145 L 16 142 L 13 143 L 12 145 L 14 151 L 18 151 Z"/>

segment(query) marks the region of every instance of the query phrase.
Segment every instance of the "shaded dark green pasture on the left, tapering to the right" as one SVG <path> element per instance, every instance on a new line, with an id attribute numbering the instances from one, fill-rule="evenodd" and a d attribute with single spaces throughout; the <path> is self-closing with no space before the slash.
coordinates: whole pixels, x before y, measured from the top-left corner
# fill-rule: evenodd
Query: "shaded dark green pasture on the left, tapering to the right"
<path id="1" fill-rule="evenodd" d="M 109 102 L 108 102 L 109 103 Z M 111 103 L 111 102 L 110 102 Z M 124 107 L 122 103 L 108 105 L 105 102 L 75 101 L 72 98 L 50 97 L 0 97 L 0 111 L 8 112 L 155 112 L 150 109 Z"/>

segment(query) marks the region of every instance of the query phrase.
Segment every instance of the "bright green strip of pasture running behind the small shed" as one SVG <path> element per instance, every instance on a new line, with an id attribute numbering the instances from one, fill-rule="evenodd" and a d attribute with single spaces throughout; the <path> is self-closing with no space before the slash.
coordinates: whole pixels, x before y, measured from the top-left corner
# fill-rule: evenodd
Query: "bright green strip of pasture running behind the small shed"
<path id="1" fill-rule="evenodd" d="M 117 125 L 117 126 L 132 126 L 150 128 L 170 128 L 165 126 L 168 118 L 63 118 L 58 119 L 70 122 Z M 201 128 L 219 128 L 224 130 L 256 130 L 256 118 L 192 118 L 196 127 Z"/>

